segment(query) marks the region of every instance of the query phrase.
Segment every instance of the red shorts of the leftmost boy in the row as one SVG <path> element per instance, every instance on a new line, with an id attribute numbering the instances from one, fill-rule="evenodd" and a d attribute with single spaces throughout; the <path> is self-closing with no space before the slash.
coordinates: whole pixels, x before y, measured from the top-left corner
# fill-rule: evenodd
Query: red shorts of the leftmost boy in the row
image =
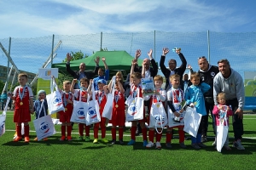
<path id="1" fill-rule="evenodd" d="M 14 122 L 31 122 L 29 108 L 15 109 Z"/>

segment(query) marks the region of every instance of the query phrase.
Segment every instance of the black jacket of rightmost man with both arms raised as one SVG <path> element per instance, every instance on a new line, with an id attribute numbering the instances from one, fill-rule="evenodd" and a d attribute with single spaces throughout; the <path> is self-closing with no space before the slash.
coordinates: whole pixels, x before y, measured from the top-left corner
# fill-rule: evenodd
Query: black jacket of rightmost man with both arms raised
<path id="1" fill-rule="evenodd" d="M 182 89 L 183 88 L 183 73 L 186 71 L 186 66 L 187 66 L 187 60 L 185 59 L 185 57 L 183 56 L 182 53 L 178 54 L 180 60 L 182 61 L 182 65 L 180 65 L 178 68 L 174 69 L 175 74 L 180 76 L 180 87 Z M 166 68 L 165 65 L 165 60 L 166 60 L 166 56 L 161 55 L 161 59 L 160 59 L 160 69 L 163 72 L 163 74 L 166 77 L 166 87 L 165 89 L 168 88 L 169 86 L 169 77 L 170 77 L 170 69 Z"/>

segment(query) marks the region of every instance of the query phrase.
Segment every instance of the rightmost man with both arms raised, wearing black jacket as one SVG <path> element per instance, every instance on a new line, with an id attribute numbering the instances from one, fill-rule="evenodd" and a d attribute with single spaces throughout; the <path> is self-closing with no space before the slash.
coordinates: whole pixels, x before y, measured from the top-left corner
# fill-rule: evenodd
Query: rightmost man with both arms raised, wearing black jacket
<path id="1" fill-rule="evenodd" d="M 182 65 L 180 65 L 178 68 L 176 68 L 177 62 L 175 59 L 170 59 L 168 62 L 169 69 L 166 68 L 165 60 L 166 60 L 166 54 L 169 53 L 168 48 L 163 48 L 163 54 L 161 55 L 161 59 L 160 59 L 160 69 L 166 77 L 166 87 L 165 87 L 166 91 L 169 88 L 172 88 L 169 77 L 172 76 L 173 74 L 177 74 L 180 76 L 180 87 L 183 89 L 183 73 L 186 70 L 187 60 L 184 58 L 183 54 L 180 53 L 180 48 L 176 48 L 175 52 L 176 54 L 178 54 L 179 58 L 182 61 Z"/>

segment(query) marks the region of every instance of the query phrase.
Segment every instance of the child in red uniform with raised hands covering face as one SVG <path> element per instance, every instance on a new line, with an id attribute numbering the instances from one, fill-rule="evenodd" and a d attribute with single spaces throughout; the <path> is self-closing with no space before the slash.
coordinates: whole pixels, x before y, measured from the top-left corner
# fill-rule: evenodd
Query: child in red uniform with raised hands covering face
<path id="1" fill-rule="evenodd" d="M 125 89 L 123 88 L 122 79 L 115 77 L 116 82 L 114 85 L 114 97 L 113 97 L 113 111 L 112 111 L 112 142 L 116 142 L 116 127 L 119 127 L 119 144 L 124 144 L 124 126 L 125 126 Z M 112 80 L 108 84 L 108 90 L 111 90 Z M 111 93 L 111 91 L 110 91 Z"/>

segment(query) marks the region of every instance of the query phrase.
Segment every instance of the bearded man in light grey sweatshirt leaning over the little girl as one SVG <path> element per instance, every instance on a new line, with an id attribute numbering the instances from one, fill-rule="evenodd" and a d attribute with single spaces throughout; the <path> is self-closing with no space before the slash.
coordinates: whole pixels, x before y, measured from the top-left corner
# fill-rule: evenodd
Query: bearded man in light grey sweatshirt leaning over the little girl
<path id="1" fill-rule="evenodd" d="M 214 104 L 218 105 L 216 96 L 224 92 L 226 95 L 227 105 L 231 105 L 233 115 L 233 131 L 235 141 L 233 146 L 237 150 L 245 150 L 241 144 L 241 136 L 243 134 L 243 106 L 244 106 L 244 84 L 241 75 L 230 68 L 228 59 L 220 59 L 218 61 L 219 73 L 213 80 L 213 98 Z"/>

